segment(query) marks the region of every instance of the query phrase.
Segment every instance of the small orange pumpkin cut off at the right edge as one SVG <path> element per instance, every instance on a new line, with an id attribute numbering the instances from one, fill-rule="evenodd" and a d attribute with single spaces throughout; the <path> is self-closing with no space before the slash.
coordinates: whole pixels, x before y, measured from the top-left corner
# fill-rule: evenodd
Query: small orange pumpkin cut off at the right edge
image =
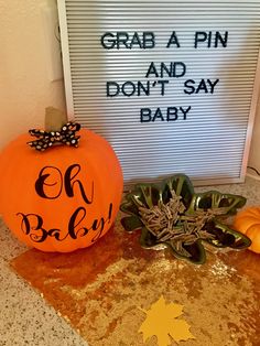
<path id="1" fill-rule="evenodd" d="M 260 207 L 249 207 L 238 213 L 234 228 L 251 239 L 249 250 L 260 253 Z"/>

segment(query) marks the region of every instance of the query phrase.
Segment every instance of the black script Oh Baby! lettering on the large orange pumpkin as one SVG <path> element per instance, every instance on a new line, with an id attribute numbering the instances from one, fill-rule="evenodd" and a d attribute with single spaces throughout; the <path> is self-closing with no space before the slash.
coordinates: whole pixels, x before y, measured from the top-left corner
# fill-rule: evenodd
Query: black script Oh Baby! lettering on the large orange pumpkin
<path id="1" fill-rule="evenodd" d="M 87 236 L 90 231 L 94 231 L 94 236 L 90 242 L 97 241 L 105 229 L 107 224 L 110 224 L 112 215 L 112 203 L 109 204 L 107 216 L 100 218 L 94 218 L 88 220 L 87 207 L 94 203 L 95 190 L 94 182 L 90 182 L 88 193 L 86 192 L 86 185 L 79 180 L 78 174 L 80 172 L 80 165 L 78 163 L 69 165 L 65 172 L 61 172 L 55 166 L 44 166 L 37 176 L 35 182 L 35 192 L 43 199 L 58 199 L 65 194 L 68 198 L 76 197 L 77 201 L 82 199 L 84 205 L 79 205 L 67 223 L 67 229 L 62 230 L 59 228 L 46 229 L 44 226 L 44 216 L 34 213 L 18 213 L 21 217 L 21 230 L 29 236 L 35 242 L 43 242 L 48 237 L 54 237 L 57 241 L 63 241 L 66 238 L 78 239 Z M 85 182 L 86 184 L 86 182 Z M 64 203 L 69 203 L 69 199 Z M 50 205 L 52 207 L 53 204 Z M 53 210 L 55 213 L 55 210 Z M 58 213 L 58 210 L 56 210 Z M 66 215 L 58 215 L 58 217 L 66 217 Z M 55 220 L 55 214 L 53 216 Z M 86 223 L 88 223 L 86 225 Z"/>

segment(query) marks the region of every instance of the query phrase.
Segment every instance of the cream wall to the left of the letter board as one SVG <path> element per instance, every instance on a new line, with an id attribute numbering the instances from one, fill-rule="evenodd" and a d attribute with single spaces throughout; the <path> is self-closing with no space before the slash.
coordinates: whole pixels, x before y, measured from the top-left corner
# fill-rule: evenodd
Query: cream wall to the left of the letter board
<path id="1" fill-rule="evenodd" d="M 63 82 L 50 82 L 41 9 L 55 0 L 0 0 L 0 148 L 43 127 L 45 107 L 65 109 Z"/>

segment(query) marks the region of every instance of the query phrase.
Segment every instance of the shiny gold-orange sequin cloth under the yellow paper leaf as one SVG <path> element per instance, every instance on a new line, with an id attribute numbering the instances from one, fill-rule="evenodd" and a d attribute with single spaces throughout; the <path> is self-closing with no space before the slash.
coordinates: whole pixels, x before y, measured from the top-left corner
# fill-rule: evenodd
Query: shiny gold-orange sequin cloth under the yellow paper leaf
<path id="1" fill-rule="evenodd" d="M 149 310 L 161 295 L 184 305 L 195 339 L 180 345 L 260 345 L 260 256 L 208 252 L 206 264 L 194 266 L 166 249 L 144 250 L 138 238 L 118 221 L 88 249 L 29 250 L 11 266 L 89 346 L 155 346 L 155 336 L 143 343 L 138 332 L 145 320 L 139 307 Z"/>

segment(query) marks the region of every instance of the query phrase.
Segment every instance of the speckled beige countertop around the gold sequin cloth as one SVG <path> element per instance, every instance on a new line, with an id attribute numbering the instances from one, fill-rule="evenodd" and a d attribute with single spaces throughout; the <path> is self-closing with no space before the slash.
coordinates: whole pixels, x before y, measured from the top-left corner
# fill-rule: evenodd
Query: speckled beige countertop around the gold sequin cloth
<path id="1" fill-rule="evenodd" d="M 247 197 L 247 206 L 260 205 L 260 181 L 247 177 L 243 184 L 196 187 L 218 190 Z M 0 346 L 86 346 L 87 343 L 47 305 L 43 298 L 9 266 L 26 248 L 0 221 Z M 116 345 L 115 345 L 116 346 Z"/>

